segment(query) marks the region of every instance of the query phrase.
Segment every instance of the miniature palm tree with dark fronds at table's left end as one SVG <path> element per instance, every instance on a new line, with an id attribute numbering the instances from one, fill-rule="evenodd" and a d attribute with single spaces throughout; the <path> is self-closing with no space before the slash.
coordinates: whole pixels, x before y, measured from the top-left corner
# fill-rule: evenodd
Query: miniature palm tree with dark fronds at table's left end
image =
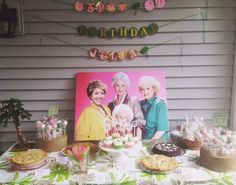
<path id="1" fill-rule="evenodd" d="M 7 127 L 9 120 L 12 120 L 16 127 L 16 132 L 20 146 L 26 144 L 26 140 L 21 131 L 21 120 L 28 119 L 32 115 L 24 109 L 23 104 L 18 99 L 3 100 L 0 104 L 0 125 Z"/>

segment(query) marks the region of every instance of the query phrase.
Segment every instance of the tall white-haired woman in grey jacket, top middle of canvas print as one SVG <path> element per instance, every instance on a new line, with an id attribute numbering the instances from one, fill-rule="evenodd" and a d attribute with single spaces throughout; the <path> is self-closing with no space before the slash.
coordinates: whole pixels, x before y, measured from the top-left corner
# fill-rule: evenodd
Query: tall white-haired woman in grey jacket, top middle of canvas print
<path id="1" fill-rule="evenodd" d="M 108 107 L 110 108 L 111 112 L 113 112 L 114 108 L 117 105 L 126 104 L 130 106 L 133 111 L 133 120 L 131 121 L 136 120 L 138 122 L 138 127 L 140 127 L 140 129 L 143 129 L 145 125 L 145 120 L 142 109 L 140 107 L 139 100 L 135 96 L 128 95 L 128 88 L 130 87 L 129 76 L 123 72 L 116 73 L 112 78 L 112 86 L 114 87 L 116 96 L 108 104 Z"/>

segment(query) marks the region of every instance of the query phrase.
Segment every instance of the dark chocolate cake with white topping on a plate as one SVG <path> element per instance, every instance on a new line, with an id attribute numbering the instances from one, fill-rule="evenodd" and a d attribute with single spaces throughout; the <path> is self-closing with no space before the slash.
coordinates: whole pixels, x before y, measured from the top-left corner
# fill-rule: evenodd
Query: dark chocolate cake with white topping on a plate
<path id="1" fill-rule="evenodd" d="M 154 154 L 162 154 L 169 157 L 175 157 L 181 155 L 181 149 L 170 142 L 160 142 L 154 145 L 152 152 Z"/>

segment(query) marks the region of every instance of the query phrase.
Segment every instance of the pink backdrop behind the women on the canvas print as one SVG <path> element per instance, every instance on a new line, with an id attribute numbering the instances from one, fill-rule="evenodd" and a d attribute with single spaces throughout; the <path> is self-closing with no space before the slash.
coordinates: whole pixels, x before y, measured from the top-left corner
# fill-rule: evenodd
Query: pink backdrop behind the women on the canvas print
<path id="1" fill-rule="evenodd" d="M 101 80 L 107 85 L 108 91 L 105 96 L 104 104 L 108 103 L 115 97 L 114 88 L 111 85 L 112 77 L 116 72 L 79 72 L 76 74 L 76 104 L 75 104 L 75 126 L 77 120 L 85 107 L 90 105 L 90 100 L 86 93 L 86 88 L 91 80 Z M 139 100 L 142 100 L 142 96 L 139 93 L 137 82 L 140 77 L 144 75 L 149 75 L 155 77 L 161 84 L 161 88 L 158 96 L 166 101 L 166 84 L 165 84 L 165 74 L 164 71 L 132 71 L 125 73 L 129 76 L 131 85 L 128 88 L 128 93 L 130 96 L 136 96 Z"/>

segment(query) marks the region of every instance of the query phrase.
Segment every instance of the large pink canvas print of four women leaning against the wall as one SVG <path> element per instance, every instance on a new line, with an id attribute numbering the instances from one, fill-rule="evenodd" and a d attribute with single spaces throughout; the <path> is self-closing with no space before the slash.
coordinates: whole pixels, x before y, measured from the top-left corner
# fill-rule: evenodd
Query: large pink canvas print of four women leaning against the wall
<path id="1" fill-rule="evenodd" d="M 112 133 L 169 139 L 163 71 L 79 72 L 75 109 L 75 141 Z"/>

